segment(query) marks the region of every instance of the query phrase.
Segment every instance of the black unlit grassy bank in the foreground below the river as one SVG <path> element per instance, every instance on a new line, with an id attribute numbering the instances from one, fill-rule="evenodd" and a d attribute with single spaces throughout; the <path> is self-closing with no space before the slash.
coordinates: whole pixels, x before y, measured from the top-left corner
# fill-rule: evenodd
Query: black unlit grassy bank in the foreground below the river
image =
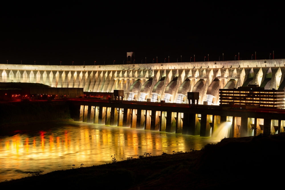
<path id="1" fill-rule="evenodd" d="M 268 137 L 227 138 L 218 144 L 208 144 L 199 151 L 54 171 L 2 182 L 0 188 L 276 188 L 283 183 L 284 142 L 285 133 Z"/>

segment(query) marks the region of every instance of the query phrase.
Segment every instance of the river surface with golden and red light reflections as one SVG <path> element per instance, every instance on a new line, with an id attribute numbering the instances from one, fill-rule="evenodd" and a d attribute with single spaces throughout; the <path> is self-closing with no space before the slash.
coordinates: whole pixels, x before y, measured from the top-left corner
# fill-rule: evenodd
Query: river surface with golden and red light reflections
<path id="1" fill-rule="evenodd" d="M 82 122 L 40 124 L 0 136 L 0 181 L 26 177 L 24 171 L 93 166 L 127 157 L 200 150 L 210 137 L 200 137 Z"/>

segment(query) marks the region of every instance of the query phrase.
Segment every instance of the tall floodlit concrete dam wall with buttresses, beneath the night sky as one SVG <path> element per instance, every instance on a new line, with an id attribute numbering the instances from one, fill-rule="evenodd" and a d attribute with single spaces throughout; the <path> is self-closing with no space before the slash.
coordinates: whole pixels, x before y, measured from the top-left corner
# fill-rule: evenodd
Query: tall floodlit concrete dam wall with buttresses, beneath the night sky
<path id="1" fill-rule="evenodd" d="M 94 66 L 0 64 L 0 82 L 80 87 L 88 92 L 124 90 L 130 101 L 188 103 L 187 92 L 199 92 L 199 104 L 219 105 L 219 89 L 257 84 L 285 88 L 285 59 Z"/>

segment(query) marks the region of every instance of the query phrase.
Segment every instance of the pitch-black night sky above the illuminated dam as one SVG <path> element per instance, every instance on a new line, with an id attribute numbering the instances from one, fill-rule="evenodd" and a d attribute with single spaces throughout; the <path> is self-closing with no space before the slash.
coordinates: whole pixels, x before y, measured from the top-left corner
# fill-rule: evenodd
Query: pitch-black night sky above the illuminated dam
<path id="1" fill-rule="evenodd" d="M 246 60 L 255 51 L 269 59 L 273 50 L 285 58 L 277 5 L 143 4 L 9 5 L 1 10 L 0 63 L 123 64 L 129 51 L 136 63 L 189 62 L 194 54 L 218 61 L 222 53 L 234 60 L 238 52 Z"/>

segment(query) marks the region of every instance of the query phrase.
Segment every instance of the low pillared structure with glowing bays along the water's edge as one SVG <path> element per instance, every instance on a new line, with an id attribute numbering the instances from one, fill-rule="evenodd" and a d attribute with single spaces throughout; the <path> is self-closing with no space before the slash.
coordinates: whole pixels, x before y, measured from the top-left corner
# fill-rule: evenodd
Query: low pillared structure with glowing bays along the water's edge
<path id="1" fill-rule="evenodd" d="M 236 109 L 214 105 L 66 99 L 74 108 L 75 120 L 145 130 L 211 136 L 222 122 L 231 122 L 228 137 L 284 132 L 285 110 Z M 282 120 L 283 119 L 283 120 Z"/>

